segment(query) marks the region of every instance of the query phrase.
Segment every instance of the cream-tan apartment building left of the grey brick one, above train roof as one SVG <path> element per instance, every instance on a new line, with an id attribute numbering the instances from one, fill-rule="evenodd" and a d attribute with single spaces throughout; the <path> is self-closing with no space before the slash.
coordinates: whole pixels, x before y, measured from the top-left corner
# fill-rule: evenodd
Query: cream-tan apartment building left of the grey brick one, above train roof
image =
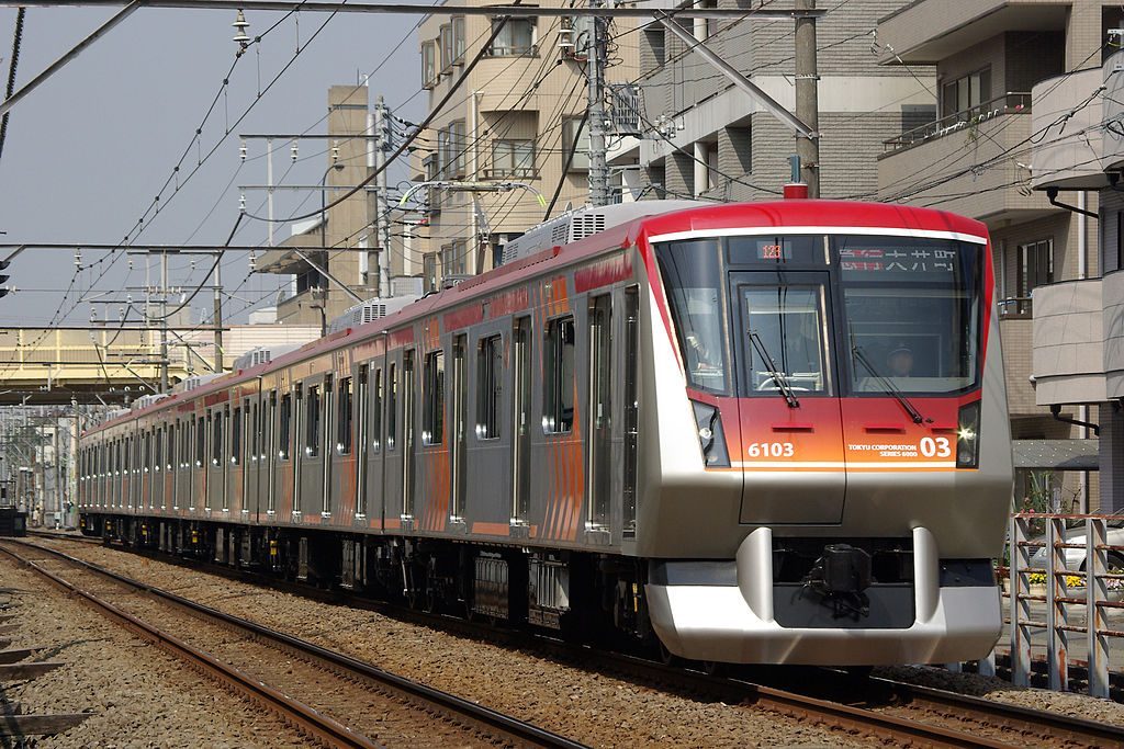
<path id="1" fill-rule="evenodd" d="M 563 7 L 559 0 L 540 4 Z M 498 16 L 439 11 L 423 20 L 418 39 L 429 111 L 499 25 Z M 626 19 L 610 26 L 609 85 L 636 75 L 632 28 Z M 579 16 L 508 19 L 422 134 L 414 172 L 428 185 L 427 226 L 418 229 L 415 247 L 426 290 L 497 265 L 508 239 L 544 219 L 544 205 L 552 203 L 556 214 L 586 204 L 588 128 L 580 122 L 588 102 L 589 30 L 588 18 Z"/>

